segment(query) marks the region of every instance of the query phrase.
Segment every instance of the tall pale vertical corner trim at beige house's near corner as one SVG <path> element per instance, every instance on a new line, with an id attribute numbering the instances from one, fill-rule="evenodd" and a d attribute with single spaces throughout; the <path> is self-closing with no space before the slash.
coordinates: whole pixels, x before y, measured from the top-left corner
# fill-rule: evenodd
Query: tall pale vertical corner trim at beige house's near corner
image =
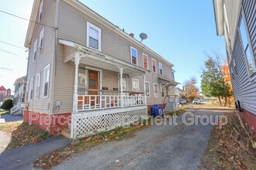
<path id="1" fill-rule="evenodd" d="M 57 26 L 59 19 L 59 4 L 60 1 L 56 0 L 55 9 L 55 21 L 54 21 L 54 63 L 53 63 L 53 74 L 52 74 L 52 84 L 50 90 L 50 114 L 54 112 L 54 87 L 55 87 L 55 76 L 56 76 L 56 65 L 57 65 Z"/>

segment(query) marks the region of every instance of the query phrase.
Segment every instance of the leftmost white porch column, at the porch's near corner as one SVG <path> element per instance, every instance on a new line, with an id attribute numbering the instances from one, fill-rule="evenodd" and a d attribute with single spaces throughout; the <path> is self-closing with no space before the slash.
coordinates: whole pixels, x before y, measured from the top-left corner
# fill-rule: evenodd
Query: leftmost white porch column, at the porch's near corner
<path id="1" fill-rule="evenodd" d="M 73 111 L 78 111 L 78 68 L 81 56 L 79 53 L 75 53 L 75 72 L 74 72 L 74 98 L 73 98 Z"/>

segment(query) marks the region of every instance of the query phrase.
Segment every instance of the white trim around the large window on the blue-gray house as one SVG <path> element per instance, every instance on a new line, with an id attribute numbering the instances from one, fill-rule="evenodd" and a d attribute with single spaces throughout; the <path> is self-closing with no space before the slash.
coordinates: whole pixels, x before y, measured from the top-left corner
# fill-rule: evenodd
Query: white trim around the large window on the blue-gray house
<path id="1" fill-rule="evenodd" d="M 246 18 L 245 18 L 245 14 L 244 14 L 244 8 L 243 8 L 243 5 L 241 5 L 241 17 L 240 17 L 240 20 L 239 20 L 239 23 L 240 24 L 244 24 L 244 29 L 245 29 L 245 32 L 246 32 L 246 38 L 247 38 L 247 42 L 248 42 L 248 47 L 249 47 L 249 50 L 250 50 L 250 53 L 251 53 L 251 59 L 252 59 L 252 63 L 253 63 L 253 66 L 254 66 L 254 73 L 251 75 L 250 73 L 250 69 L 249 69 L 249 64 L 248 64 L 248 59 L 247 59 L 247 54 L 245 53 L 245 48 L 244 48 L 244 43 L 243 43 L 243 39 L 242 39 L 242 35 L 241 35 L 241 32 L 240 32 L 240 24 L 238 24 L 238 32 L 239 32 L 239 36 L 240 36 L 240 40 L 242 42 L 242 46 L 243 46 L 243 51 L 244 51 L 244 59 L 245 59 L 245 63 L 246 63 L 246 67 L 247 67 L 247 75 L 249 76 L 249 80 L 250 81 L 253 81 L 256 79 L 256 63 L 255 63 L 255 56 L 254 56 L 254 52 L 252 50 L 252 46 L 251 46 L 251 40 L 250 40 L 250 36 L 249 36 L 249 32 L 248 32 L 248 27 L 247 27 L 247 22 L 246 22 Z M 242 23 L 242 17 L 243 17 L 243 20 L 244 20 L 244 23 Z"/>

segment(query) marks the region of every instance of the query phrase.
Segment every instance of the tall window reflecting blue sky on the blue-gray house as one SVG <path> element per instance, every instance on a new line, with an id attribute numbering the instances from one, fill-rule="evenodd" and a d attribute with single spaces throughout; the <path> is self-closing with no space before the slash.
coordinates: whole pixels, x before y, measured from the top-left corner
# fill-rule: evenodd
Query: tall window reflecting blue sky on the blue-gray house
<path id="1" fill-rule="evenodd" d="M 255 73 L 255 70 L 256 70 L 255 56 L 253 53 L 251 53 L 251 46 L 249 45 L 249 42 L 248 42 L 249 36 L 247 32 L 247 24 L 243 16 L 240 19 L 240 37 L 242 39 L 243 46 L 244 46 L 244 56 L 247 63 L 247 70 L 251 76 L 252 74 Z"/>

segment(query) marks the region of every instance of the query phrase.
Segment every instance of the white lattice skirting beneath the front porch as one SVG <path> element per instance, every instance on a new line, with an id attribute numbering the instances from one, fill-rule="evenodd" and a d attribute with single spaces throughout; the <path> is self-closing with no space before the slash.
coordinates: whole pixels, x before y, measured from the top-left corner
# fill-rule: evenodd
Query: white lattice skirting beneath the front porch
<path id="1" fill-rule="evenodd" d="M 73 112 L 71 138 L 99 134 L 138 121 L 134 117 L 146 118 L 147 106 Z"/>

